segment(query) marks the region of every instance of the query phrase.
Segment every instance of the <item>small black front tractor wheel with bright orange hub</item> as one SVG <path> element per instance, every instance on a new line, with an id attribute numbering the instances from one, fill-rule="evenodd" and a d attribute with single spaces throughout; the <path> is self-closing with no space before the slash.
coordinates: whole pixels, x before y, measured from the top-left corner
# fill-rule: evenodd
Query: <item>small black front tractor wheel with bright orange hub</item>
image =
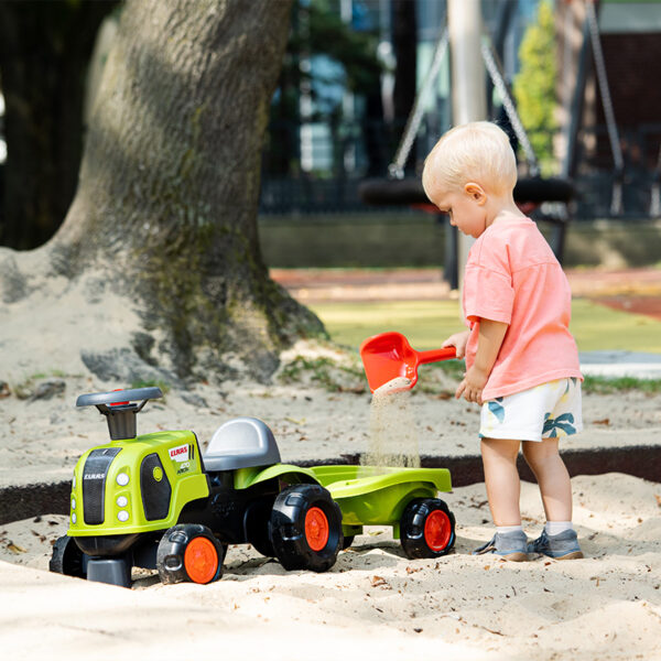
<path id="1" fill-rule="evenodd" d="M 195 565 L 194 556 L 197 554 L 199 557 L 199 553 L 204 556 Z M 206 584 L 220 578 L 224 560 L 224 545 L 206 525 L 180 523 L 170 528 L 161 538 L 156 570 L 162 583 L 186 581 Z"/>

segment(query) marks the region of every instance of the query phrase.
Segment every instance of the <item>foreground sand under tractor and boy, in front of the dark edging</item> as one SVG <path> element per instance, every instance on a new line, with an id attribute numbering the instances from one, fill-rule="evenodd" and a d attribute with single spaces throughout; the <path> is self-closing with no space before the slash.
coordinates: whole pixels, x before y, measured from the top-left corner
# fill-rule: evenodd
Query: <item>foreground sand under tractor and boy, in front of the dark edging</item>
<path id="1" fill-rule="evenodd" d="M 325 574 L 231 546 L 206 586 L 147 575 L 129 590 L 48 574 L 65 518 L 10 523 L 0 644 L 11 659 L 192 658 L 213 644 L 247 659 L 661 659 L 661 485 L 621 474 L 572 484 L 586 557 L 566 562 L 469 555 L 490 534 L 484 485 L 444 495 L 457 543 L 443 559 L 408 560 L 389 529 L 368 528 Z M 522 503 L 539 533 L 533 485 Z"/>

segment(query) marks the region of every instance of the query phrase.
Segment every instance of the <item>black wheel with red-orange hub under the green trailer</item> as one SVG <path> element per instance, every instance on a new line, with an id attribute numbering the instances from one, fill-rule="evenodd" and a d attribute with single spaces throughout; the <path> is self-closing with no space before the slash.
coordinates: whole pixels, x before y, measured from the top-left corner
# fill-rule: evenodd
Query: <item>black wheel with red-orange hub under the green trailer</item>
<path id="1" fill-rule="evenodd" d="M 400 520 L 400 541 L 410 559 L 446 555 L 455 543 L 454 514 L 438 498 L 416 498 Z"/>

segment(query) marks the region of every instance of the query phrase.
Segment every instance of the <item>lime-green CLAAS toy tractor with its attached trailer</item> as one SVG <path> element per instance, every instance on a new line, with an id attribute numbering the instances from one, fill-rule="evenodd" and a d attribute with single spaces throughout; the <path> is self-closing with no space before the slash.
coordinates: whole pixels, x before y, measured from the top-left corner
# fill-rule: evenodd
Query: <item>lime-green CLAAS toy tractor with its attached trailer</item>
<path id="1" fill-rule="evenodd" d="M 223 424 L 203 456 L 189 431 L 137 435 L 137 414 L 160 397 L 139 388 L 78 398 L 107 418 L 110 442 L 76 465 L 51 571 L 129 587 L 137 566 L 163 583 L 206 584 L 223 574 L 228 544 L 250 543 L 286 570 L 324 572 L 371 523 L 392 524 L 410 557 L 452 549 L 454 517 L 435 499 L 451 489 L 447 470 L 281 464 L 254 418 Z"/>

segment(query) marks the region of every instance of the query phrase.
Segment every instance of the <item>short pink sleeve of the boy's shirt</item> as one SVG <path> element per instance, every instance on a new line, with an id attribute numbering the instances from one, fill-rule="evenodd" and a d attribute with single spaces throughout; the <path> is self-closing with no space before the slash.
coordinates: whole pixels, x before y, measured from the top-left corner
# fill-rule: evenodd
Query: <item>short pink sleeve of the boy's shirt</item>
<path id="1" fill-rule="evenodd" d="M 464 315 L 468 322 L 479 318 L 509 324 L 514 290 L 511 277 L 499 270 L 467 264 L 464 277 Z"/>

